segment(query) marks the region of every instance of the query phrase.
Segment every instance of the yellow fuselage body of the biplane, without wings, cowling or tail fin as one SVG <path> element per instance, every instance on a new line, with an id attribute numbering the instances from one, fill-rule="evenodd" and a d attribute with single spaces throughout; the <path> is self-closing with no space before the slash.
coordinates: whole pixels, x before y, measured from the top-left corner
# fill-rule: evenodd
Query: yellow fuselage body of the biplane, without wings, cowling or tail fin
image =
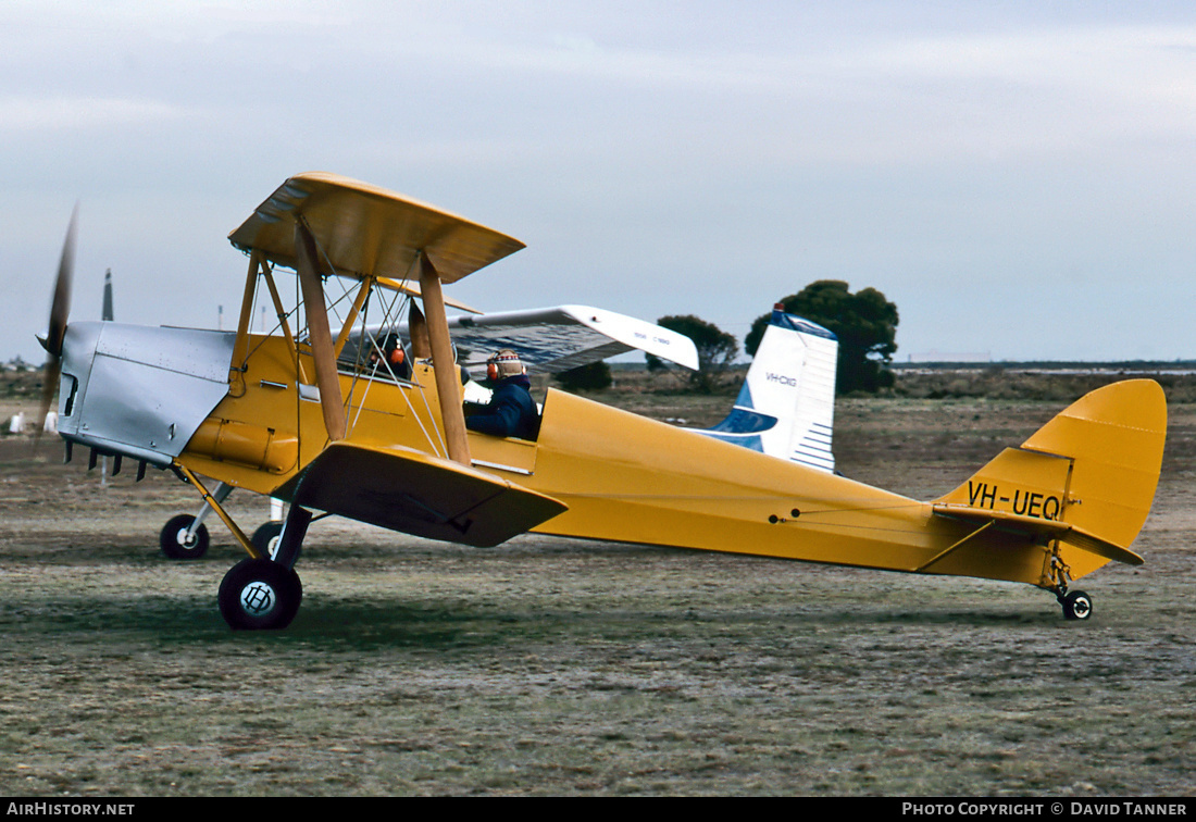
<path id="1" fill-rule="evenodd" d="M 312 392 L 300 391 L 293 349 L 255 336 L 250 352 L 179 461 L 279 495 L 328 436 L 318 400 L 300 396 Z M 340 382 L 347 443 L 444 455 L 428 365 L 416 366 L 411 383 L 349 373 Z M 475 468 L 568 506 L 537 532 L 1049 584 L 1046 546 L 996 529 L 976 534 L 935 516 L 929 503 L 556 390 L 544 402 L 537 442 L 470 432 L 469 447 Z M 1073 578 L 1106 561 L 1078 550 L 1064 559 Z"/>

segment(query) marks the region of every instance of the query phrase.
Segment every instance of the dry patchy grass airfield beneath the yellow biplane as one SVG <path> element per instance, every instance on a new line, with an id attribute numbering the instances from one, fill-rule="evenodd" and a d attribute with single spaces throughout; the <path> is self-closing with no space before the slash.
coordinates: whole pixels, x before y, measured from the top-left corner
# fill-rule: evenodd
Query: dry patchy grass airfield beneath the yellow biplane
<path id="1" fill-rule="evenodd" d="M 692 425 L 728 402 L 608 398 Z M 835 450 L 929 498 L 1063 404 L 849 398 Z M 194 492 L 7 437 L 0 793 L 1191 794 L 1194 408 L 1170 409 L 1147 564 L 1086 578 L 1085 623 L 1026 586 L 329 519 L 292 627 L 233 633 L 222 526 L 202 561 L 157 550 Z"/>

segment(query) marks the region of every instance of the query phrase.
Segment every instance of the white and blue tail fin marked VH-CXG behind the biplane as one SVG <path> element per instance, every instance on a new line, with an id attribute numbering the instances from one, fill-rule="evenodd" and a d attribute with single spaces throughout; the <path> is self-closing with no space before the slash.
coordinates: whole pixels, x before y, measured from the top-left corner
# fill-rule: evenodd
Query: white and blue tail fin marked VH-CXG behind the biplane
<path id="1" fill-rule="evenodd" d="M 701 433 L 834 471 L 837 365 L 835 335 L 777 305 L 734 407 L 726 419 Z"/>

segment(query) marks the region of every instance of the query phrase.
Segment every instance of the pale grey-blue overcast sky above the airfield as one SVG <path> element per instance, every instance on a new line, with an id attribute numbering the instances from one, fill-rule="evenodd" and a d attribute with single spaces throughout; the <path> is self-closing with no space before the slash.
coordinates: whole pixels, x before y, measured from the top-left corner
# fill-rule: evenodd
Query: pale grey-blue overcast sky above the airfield
<path id="1" fill-rule="evenodd" d="M 0 5 L 0 359 L 72 316 L 225 327 L 227 242 L 334 171 L 527 249 L 484 310 L 695 313 L 742 341 L 818 279 L 897 360 L 1196 357 L 1191 2 Z"/>

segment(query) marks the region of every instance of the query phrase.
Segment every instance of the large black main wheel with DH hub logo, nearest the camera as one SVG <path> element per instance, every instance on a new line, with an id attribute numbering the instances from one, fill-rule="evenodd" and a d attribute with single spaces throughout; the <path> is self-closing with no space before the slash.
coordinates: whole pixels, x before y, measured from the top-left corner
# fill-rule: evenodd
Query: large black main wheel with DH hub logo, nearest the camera
<path id="1" fill-rule="evenodd" d="M 299 574 L 269 560 L 242 560 L 220 583 L 220 615 L 234 631 L 286 628 L 301 601 Z"/>

